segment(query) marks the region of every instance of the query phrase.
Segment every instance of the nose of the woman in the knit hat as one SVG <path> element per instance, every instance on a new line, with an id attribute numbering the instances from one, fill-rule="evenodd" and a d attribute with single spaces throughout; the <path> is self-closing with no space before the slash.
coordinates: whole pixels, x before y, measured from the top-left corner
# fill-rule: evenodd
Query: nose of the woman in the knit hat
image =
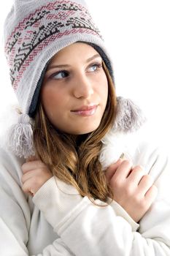
<path id="1" fill-rule="evenodd" d="M 93 94 L 93 84 L 85 75 L 80 75 L 74 83 L 74 97 L 89 98 Z"/>

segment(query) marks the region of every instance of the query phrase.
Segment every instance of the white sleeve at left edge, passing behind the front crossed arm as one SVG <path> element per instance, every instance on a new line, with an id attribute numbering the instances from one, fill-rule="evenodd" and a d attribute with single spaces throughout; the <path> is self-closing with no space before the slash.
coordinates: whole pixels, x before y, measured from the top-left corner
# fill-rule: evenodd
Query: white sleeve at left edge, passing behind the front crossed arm
<path id="1" fill-rule="evenodd" d="M 0 151 L 0 255 L 30 255 L 27 244 L 31 225 L 31 210 L 20 188 L 20 165 L 15 157 Z M 61 238 L 42 249 L 37 256 L 72 256 Z M 32 256 L 36 256 L 32 255 Z"/>

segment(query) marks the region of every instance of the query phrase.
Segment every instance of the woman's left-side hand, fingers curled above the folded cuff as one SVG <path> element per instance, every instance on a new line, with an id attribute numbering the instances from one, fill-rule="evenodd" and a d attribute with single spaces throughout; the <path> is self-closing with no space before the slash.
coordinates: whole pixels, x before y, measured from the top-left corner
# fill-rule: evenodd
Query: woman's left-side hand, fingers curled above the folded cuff
<path id="1" fill-rule="evenodd" d="M 23 170 L 22 189 L 29 195 L 35 195 L 40 187 L 53 176 L 47 166 L 35 157 L 27 159 L 21 169 Z"/>

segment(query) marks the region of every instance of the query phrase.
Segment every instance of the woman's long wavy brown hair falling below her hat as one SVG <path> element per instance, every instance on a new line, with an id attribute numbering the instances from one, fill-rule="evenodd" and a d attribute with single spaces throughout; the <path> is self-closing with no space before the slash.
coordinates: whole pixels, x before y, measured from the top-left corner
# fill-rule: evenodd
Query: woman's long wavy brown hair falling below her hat
<path id="1" fill-rule="evenodd" d="M 111 129 L 116 115 L 115 87 L 109 71 L 102 63 L 108 80 L 108 99 L 104 115 L 98 128 L 86 135 L 79 135 L 79 141 L 58 131 L 50 123 L 41 100 L 34 119 L 34 147 L 36 155 L 49 167 L 54 176 L 67 184 L 72 184 L 82 197 L 107 202 L 112 198 L 112 190 L 99 162 L 101 139 Z"/>

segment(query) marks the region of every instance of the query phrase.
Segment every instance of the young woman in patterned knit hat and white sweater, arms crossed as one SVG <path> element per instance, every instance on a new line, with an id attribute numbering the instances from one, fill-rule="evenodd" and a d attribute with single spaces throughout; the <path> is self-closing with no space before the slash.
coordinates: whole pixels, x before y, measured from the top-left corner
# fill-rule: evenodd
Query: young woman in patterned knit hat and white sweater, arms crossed
<path id="1" fill-rule="evenodd" d="M 0 153 L 1 255 L 170 255 L 169 159 L 139 141 L 85 2 L 16 0 L 4 39 L 21 110 Z"/>

